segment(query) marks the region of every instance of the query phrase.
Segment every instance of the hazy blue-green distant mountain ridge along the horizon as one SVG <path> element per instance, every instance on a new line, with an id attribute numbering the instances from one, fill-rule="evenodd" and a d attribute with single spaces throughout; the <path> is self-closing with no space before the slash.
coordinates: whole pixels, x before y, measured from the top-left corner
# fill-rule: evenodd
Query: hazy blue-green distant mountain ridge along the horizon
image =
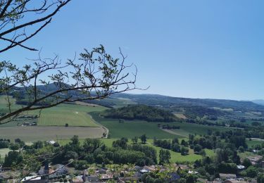
<path id="1" fill-rule="evenodd" d="M 70 87 L 66 85 L 65 87 Z M 58 89 L 54 83 L 39 85 L 37 89 L 42 93 L 53 92 Z M 25 98 L 25 89 L 23 87 L 16 87 L 15 92 L 20 93 L 20 100 Z M 72 91 L 69 94 L 73 96 L 81 95 L 81 92 Z M 91 93 L 94 95 L 94 93 Z M 260 113 L 264 117 L 264 101 L 235 101 L 225 99 L 189 99 L 183 97 L 163 96 L 159 94 L 113 94 L 103 100 L 85 101 L 87 103 L 95 103 L 108 108 L 119 108 L 129 104 L 142 104 L 146 106 L 155 106 L 163 108 L 172 113 L 184 112 L 184 115 L 189 116 L 220 116 L 220 115 L 234 115 L 236 113 Z"/>

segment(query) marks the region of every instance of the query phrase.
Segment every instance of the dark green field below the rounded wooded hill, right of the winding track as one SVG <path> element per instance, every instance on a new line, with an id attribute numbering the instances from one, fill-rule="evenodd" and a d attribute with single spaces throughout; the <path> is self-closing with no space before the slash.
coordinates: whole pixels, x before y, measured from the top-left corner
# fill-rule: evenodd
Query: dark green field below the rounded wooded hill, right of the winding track
<path id="1" fill-rule="evenodd" d="M 91 113 L 94 120 L 101 123 L 110 130 L 111 138 L 121 137 L 139 137 L 142 134 L 146 134 L 147 137 L 153 139 L 171 139 L 174 137 L 188 137 L 189 134 L 207 134 L 208 130 L 214 131 L 225 131 L 228 130 L 226 127 L 213 127 L 206 125 L 197 125 L 186 122 L 146 122 L 140 120 L 124 120 L 119 122 L 116 119 L 101 118 L 99 113 Z M 161 125 L 176 125 L 180 126 L 179 130 L 161 130 L 158 127 L 158 123 Z M 165 132 L 167 131 L 167 132 Z"/>

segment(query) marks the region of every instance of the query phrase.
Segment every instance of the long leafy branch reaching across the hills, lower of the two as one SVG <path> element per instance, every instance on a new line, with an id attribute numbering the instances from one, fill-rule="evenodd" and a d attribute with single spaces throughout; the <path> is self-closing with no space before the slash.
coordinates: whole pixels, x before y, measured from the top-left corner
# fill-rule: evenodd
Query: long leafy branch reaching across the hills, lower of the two
<path id="1" fill-rule="evenodd" d="M 85 49 L 80 58 L 65 63 L 58 56 L 43 59 L 40 55 L 34 64 L 23 68 L 1 61 L 0 94 L 13 96 L 23 105 L 14 111 L 9 108 L 0 117 L 1 124 L 23 111 L 51 108 L 63 102 L 103 99 L 136 89 L 137 68 L 125 65 L 126 57 L 121 50 L 120 56 L 113 58 L 100 45 L 92 51 Z"/>

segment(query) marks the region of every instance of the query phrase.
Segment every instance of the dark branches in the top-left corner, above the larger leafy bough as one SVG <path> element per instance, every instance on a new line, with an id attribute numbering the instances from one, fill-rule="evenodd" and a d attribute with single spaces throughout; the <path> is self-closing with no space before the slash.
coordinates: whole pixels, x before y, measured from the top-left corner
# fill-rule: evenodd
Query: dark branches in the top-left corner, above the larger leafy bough
<path id="1" fill-rule="evenodd" d="M 0 53 L 15 46 L 37 51 L 25 42 L 49 25 L 70 1 L 0 0 Z"/>

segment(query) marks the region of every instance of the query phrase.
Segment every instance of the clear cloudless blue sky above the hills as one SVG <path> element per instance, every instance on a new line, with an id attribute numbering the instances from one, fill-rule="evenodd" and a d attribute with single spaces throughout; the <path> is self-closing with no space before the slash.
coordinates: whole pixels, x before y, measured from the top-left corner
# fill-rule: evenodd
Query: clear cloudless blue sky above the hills
<path id="1" fill-rule="evenodd" d="M 73 58 L 103 44 L 138 68 L 134 93 L 264 99 L 264 1 L 73 0 L 27 45 Z M 2 55 L 18 64 L 37 53 Z"/>

